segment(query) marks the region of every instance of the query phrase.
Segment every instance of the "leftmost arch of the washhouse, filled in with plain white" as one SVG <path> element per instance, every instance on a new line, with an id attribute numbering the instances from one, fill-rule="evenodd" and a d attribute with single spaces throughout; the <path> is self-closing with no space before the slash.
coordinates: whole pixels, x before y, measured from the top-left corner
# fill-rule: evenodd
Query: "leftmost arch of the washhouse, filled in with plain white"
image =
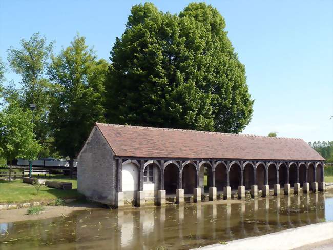
<path id="1" fill-rule="evenodd" d="M 139 167 L 134 163 L 122 165 L 121 190 L 124 200 L 135 201 L 136 191 L 139 190 Z"/>

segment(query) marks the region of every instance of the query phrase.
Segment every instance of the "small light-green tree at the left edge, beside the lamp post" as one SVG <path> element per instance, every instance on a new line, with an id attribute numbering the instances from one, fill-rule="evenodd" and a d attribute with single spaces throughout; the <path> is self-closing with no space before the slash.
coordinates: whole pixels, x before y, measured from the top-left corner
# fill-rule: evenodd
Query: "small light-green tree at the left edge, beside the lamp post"
<path id="1" fill-rule="evenodd" d="M 33 133 L 32 112 L 15 100 L 0 112 L 0 157 L 10 163 L 16 158 L 33 160 L 41 147 Z"/>

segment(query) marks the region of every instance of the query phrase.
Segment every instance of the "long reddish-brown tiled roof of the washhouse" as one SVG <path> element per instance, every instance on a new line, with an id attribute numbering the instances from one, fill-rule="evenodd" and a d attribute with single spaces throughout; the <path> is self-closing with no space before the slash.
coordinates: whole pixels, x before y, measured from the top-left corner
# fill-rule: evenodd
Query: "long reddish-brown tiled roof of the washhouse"
<path id="1" fill-rule="evenodd" d="M 116 156 L 325 160 L 302 139 L 96 123 Z"/>

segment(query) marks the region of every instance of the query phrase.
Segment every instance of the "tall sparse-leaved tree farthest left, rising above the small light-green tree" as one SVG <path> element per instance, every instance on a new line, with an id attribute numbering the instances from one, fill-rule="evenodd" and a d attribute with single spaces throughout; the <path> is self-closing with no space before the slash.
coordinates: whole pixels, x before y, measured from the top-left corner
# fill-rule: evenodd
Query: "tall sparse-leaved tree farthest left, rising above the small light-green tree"
<path id="1" fill-rule="evenodd" d="M 8 50 L 8 62 L 13 72 L 20 76 L 20 87 L 15 84 L 5 89 L 5 99 L 16 99 L 21 108 L 26 109 L 35 104 L 34 123 L 36 139 L 47 150 L 50 128 L 48 126 L 48 107 L 52 85 L 47 78 L 46 70 L 53 42 L 34 33 L 29 40 L 22 39 L 20 48 Z"/>

